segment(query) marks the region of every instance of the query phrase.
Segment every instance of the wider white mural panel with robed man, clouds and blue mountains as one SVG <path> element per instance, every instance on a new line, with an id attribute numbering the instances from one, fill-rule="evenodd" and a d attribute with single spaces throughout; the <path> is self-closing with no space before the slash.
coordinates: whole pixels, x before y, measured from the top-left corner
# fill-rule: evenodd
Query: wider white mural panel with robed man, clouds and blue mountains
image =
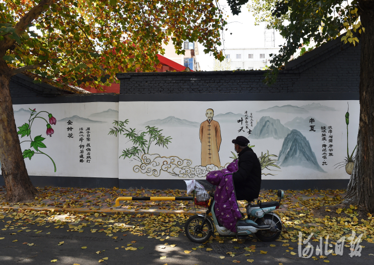
<path id="1" fill-rule="evenodd" d="M 346 133 L 347 103 L 358 118 L 358 101 L 121 102 L 119 117 L 131 117 L 131 128 L 162 130 L 170 142 L 136 159 L 126 156 L 119 178 L 204 178 L 236 158 L 231 140 L 238 135 L 250 140 L 267 179 L 349 178 L 355 150 L 339 163 L 347 149 L 343 137 L 357 141 L 358 119 L 350 125 L 355 133 Z M 136 117 L 128 115 L 133 110 Z M 119 150 L 130 151 L 130 143 L 120 137 Z"/>

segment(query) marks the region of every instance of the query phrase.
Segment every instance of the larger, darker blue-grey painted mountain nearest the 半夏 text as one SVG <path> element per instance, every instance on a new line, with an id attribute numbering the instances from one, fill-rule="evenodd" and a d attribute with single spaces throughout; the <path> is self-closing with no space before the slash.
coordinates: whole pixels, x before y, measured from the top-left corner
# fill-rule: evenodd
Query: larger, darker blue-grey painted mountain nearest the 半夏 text
<path id="1" fill-rule="evenodd" d="M 284 138 L 282 149 L 278 155 L 277 165 L 281 167 L 303 166 L 325 172 L 318 164 L 316 155 L 309 141 L 297 130 L 292 130 L 291 133 Z"/>

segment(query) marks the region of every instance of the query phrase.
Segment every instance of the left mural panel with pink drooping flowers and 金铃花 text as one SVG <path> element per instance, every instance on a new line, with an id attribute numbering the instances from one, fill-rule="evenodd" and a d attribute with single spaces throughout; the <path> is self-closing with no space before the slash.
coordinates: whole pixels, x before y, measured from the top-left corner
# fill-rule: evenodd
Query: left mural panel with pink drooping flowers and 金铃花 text
<path id="1" fill-rule="evenodd" d="M 108 135 L 118 120 L 118 103 L 28 104 L 13 110 L 29 175 L 118 177 L 118 138 Z"/>

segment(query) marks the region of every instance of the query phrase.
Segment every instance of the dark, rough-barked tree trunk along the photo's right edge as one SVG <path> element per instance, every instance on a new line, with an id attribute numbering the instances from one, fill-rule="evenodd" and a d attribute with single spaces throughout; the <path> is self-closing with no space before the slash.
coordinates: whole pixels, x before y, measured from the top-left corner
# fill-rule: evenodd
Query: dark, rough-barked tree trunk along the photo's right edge
<path id="1" fill-rule="evenodd" d="M 374 212 L 374 1 L 361 0 L 360 126 L 355 166 L 343 203 Z"/>

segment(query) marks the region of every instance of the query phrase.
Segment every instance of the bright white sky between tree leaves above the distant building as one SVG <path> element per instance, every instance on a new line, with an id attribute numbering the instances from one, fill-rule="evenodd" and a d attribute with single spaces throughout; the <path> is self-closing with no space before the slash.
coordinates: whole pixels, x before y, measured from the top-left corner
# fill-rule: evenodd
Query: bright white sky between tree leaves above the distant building
<path id="1" fill-rule="evenodd" d="M 224 31 L 224 43 L 222 43 L 220 49 L 264 47 L 265 23 L 255 26 L 254 16 L 252 13 L 248 12 L 246 4 L 242 5 L 239 15 L 231 14 L 227 4 L 224 7 L 227 13 L 226 15 L 229 15 L 227 18 L 228 29 Z M 275 47 L 283 44 L 284 39 L 279 32 L 275 32 Z M 199 55 L 196 55 L 196 59 L 200 64 L 201 70 L 212 71 L 214 57 L 209 54 L 204 54 L 204 48 L 200 43 L 198 44 L 198 50 Z"/>

